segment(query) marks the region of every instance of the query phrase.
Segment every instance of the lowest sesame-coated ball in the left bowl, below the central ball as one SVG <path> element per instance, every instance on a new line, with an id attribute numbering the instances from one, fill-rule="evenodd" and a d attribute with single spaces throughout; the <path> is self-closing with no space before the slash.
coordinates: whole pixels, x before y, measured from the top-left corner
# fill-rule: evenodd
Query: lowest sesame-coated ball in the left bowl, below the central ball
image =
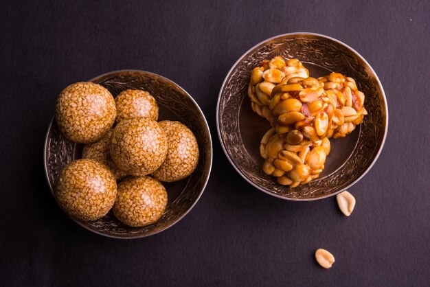
<path id="1" fill-rule="evenodd" d="M 125 225 L 143 227 L 159 220 L 167 205 L 166 188 L 150 176 L 130 176 L 118 184 L 113 214 Z"/>

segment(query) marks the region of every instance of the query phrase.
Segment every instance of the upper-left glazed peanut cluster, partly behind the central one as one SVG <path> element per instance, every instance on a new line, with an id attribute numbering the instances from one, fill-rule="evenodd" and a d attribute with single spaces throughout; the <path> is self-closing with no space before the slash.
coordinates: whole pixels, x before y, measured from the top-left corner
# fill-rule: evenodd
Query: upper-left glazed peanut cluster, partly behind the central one
<path id="1" fill-rule="evenodd" d="M 251 107 L 258 115 L 270 120 L 269 100 L 271 91 L 276 84 L 286 83 L 290 78 L 307 78 L 309 71 L 297 59 L 284 60 L 276 56 L 271 60 L 264 60 L 260 67 L 253 69 L 248 86 L 248 96 Z"/>

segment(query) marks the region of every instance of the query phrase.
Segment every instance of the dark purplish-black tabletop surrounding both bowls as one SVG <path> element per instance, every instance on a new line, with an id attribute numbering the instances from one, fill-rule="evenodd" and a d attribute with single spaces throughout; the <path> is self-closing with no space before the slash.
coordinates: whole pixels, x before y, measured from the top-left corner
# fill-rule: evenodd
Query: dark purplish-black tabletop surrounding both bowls
<path id="1" fill-rule="evenodd" d="M 1 286 L 430 286 L 429 1 L 8 2 L 0 4 Z M 220 148 L 215 110 L 227 71 L 249 47 L 286 32 L 343 41 L 385 88 L 387 141 L 350 189 L 350 218 L 335 198 L 295 203 L 256 190 Z M 214 140 L 199 203 L 141 240 L 76 225 L 43 172 L 58 93 L 117 69 L 177 82 Z M 336 257 L 330 270 L 313 259 L 319 247 Z"/>

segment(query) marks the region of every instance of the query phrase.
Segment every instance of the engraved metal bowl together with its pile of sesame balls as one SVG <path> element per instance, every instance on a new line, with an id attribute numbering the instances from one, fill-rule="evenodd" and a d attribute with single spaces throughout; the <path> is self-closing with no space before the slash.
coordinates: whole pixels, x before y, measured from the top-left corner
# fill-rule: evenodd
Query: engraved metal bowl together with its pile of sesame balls
<path id="1" fill-rule="evenodd" d="M 210 175 L 212 142 L 201 109 L 181 87 L 154 73 L 114 71 L 84 85 L 93 84 L 98 87 L 91 88 L 93 95 L 84 90 L 73 94 L 74 102 L 57 103 L 63 109 L 49 124 L 45 173 L 58 205 L 78 225 L 103 236 L 141 238 L 168 229 L 194 207 Z M 89 115 L 94 119 L 87 121 Z M 82 126 L 71 120 L 82 117 Z M 85 137 L 93 123 L 100 128 Z M 170 125 L 173 128 L 166 128 Z M 181 131 L 183 137 L 170 130 Z M 174 170 L 178 162 L 182 168 Z M 92 165 L 98 167 L 91 169 L 93 174 L 104 174 L 109 183 L 90 176 Z M 115 200 L 109 193 L 98 194 L 95 187 L 115 190 Z M 85 198 L 97 196 L 106 202 L 103 208 L 82 205 Z M 89 211 L 97 216 L 84 216 L 92 214 Z"/>

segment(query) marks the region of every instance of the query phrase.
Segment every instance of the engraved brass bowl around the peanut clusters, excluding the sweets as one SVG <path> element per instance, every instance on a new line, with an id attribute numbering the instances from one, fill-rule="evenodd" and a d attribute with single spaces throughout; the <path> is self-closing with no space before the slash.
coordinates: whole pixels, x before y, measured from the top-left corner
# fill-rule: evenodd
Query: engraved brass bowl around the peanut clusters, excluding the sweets
<path id="1" fill-rule="evenodd" d="M 330 139 L 332 151 L 319 179 L 295 188 L 279 185 L 262 172 L 264 160 L 259 145 L 270 125 L 253 113 L 247 96 L 252 69 L 274 56 L 301 60 L 314 78 L 332 71 L 354 78 L 365 93 L 365 108 L 369 113 L 352 134 Z M 230 163 L 254 187 L 288 200 L 326 198 L 354 185 L 378 159 L 387 135 L 387 100 L 378 76 L 357 51 L 320 34 L 283 34 L 249 49 L 227 74 L 216 108 L 218 136 Z"/>

